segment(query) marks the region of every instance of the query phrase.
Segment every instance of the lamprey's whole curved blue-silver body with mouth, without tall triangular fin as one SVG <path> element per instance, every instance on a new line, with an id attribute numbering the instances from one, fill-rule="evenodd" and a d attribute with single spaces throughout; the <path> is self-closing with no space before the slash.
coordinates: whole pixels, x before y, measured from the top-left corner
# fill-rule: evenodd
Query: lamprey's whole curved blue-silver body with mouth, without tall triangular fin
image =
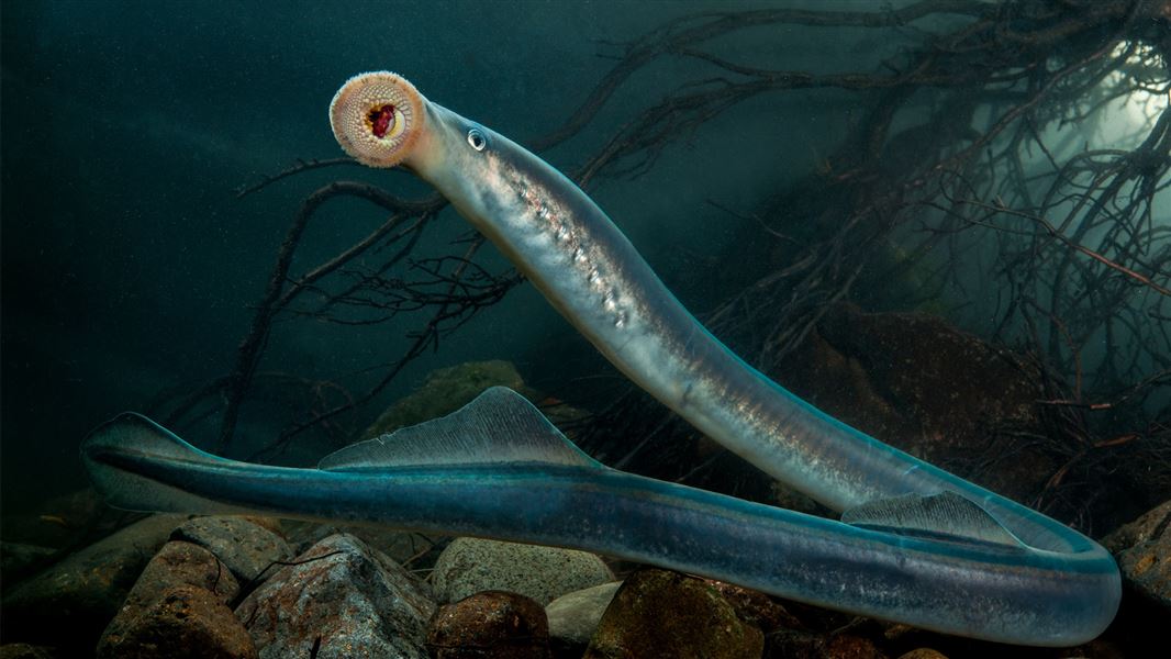
<path id="1" fill-rule="evenodd" d="M 199 493 L 220 502 L 213 509 L 578 547 L 992 640 L 1073 645 L 1112 619 L 1121 585 L 1104 549 L 769 380 L 711 336 L 597 205 L 539 157 L 389 73 L 351 78 L 330 114 L 350 155 L 404 166 L 438 188 L 628 377 L 753 465 L 845 510 L 851 523 L 596 464 L 372 460 L 356 471 L 290 471 L 190 459 L 190 447 L 179 452 L 187 459 L 142 447 L 122 453 L 110 438 L 126 434 L 126 420 L 87 445 L 96 472 L 114 467 Z M 150 490 L 141 482 L 130 489 Z M 144 507 L 145 497 L 166 507 L 136 500 L 123 481 L 105 490 L 121 493 L 114 497 L 124 506 Z M 940 493 L 950 494 L 940 501 Z"/>

